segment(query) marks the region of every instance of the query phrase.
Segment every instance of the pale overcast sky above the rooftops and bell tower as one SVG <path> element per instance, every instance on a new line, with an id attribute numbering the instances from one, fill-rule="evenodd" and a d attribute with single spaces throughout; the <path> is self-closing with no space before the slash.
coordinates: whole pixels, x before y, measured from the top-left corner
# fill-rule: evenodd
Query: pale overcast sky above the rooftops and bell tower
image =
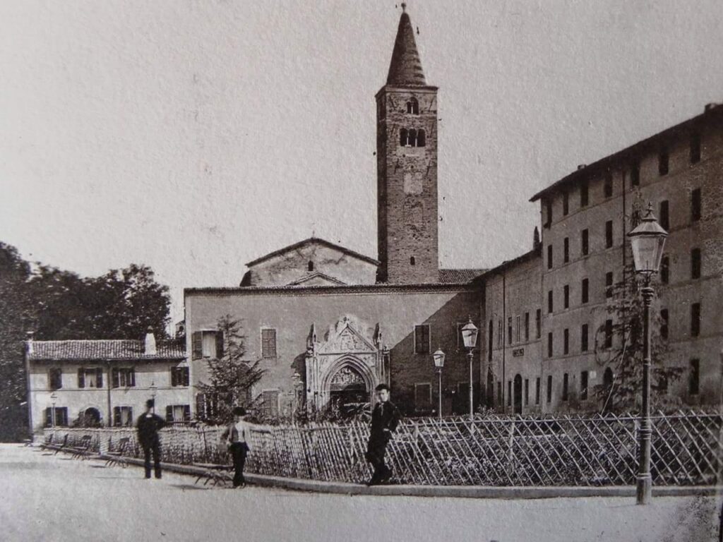
<path id="1" fill-rule="evenodd" d="M 375 1 L 0 2 L 0 240 L 80 275 L 238 285 L 312 235 L 377 256 Z M 723 101 L 723 2 L 408 1 L 439 93 L 440 264 L 532 243 L 532 194 Z"/>

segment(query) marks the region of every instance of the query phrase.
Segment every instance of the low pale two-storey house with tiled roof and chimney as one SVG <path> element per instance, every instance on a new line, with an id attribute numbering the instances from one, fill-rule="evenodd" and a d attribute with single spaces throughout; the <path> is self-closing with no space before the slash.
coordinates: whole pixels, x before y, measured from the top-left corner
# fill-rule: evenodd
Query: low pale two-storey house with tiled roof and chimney
<path id="1" fill-rule="evenodd" d="M 168 421 L 190 419 L 183 343 L 145 340 L 28 340 L 30 431 L 69 425 L 129 426 L 155 398 Z"/>

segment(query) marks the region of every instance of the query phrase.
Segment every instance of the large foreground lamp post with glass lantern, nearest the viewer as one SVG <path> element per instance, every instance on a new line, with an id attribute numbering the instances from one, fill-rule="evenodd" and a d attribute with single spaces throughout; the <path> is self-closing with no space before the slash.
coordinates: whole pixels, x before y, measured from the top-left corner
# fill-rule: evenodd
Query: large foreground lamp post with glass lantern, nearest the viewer
<path id="1" fill-rule="evenodd" d="M 652 495 L 653 478 L 650 474 L 650 437 L 652 433 L 650 420 L 650 305 L 654 290 L 651 276 L 658 272 L 660 259 L 667 231 L 660 227 L 653 215 L 652 204 L 641 223 L 630 233 L 630 248 L 633 250 L 633 264 L 638 275 L 642 275 L 644 286 L 643 296 L 643 408 L 641 411 L 640 431 L 638 432 L 638 504 L 649 504 Z"/>

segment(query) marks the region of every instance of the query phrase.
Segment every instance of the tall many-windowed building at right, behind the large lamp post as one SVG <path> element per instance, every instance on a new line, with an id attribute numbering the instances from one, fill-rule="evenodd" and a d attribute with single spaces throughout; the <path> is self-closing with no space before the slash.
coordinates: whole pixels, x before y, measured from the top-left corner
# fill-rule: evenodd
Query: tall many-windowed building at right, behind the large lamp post
<path id="1" fill-rule="evenodd" d="M 723 108 L 714 105 L 535 194 L 542 212 L 542 366 L 546 410 L 595 410 L 627 340 L 612 332 L 613 290 L 633 272 L 627 234 L 649 203 L 669 232 L 654 322 L 664 366 L 683 369 L 668 394 L 717 403 L 723 315 Z M 629 276 L 629 275 L 628 275 Z M 570 406 L 571 403 L 574 403 Z"/>

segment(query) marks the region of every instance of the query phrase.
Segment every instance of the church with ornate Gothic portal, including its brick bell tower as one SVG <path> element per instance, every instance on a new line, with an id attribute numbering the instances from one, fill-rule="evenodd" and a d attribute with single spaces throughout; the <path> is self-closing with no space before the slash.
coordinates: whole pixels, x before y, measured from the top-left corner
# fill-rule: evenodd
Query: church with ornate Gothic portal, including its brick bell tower
<path id="1" fill-rule="evenodd" d="M 471 280 L 483 270 L 439 267 L 437 87 L 427 85 L 406 12 L 376 100 L 377 258 L 308 238 L 249 262 L 238 288 L 187 288 L 194 384 L 208 382 L 228 314 L 241 322 L 249 361 L 261 360 L 252 399 L 269 415 L 364 403 L 382 382 L 407 415 L 436 412 L 437 349 L 446 353 L 443 413 L 469 411 L 460 329 L 480 325 Z M 473 363 L 476 386 L 477 353 Z M 197 412 L 204 400 L 197 395 Z"/>

